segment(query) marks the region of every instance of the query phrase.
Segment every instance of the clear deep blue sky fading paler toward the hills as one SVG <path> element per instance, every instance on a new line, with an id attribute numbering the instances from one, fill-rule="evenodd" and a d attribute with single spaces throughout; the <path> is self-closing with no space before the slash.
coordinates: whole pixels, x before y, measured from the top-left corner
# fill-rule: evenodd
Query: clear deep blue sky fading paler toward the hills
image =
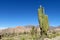
<path id="1" fill-rule="evenodd" d="M 42 5 L 50 26 L 60 25 L 60 0 L 0 0 L 0 28 L 38 25 Z"/>

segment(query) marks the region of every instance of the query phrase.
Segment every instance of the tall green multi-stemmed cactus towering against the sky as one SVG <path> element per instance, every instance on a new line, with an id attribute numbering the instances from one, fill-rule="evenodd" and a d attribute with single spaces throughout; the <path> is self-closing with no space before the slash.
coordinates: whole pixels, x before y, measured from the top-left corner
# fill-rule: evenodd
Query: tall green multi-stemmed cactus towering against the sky
<path id="1" fill-rule="evenodd" d="M 42 6 L 40 6 L 40 8 L 38 9 L 38 21 L 39 21 L 39 27 L 40 27 L 40 34 L 41 37 L 43 35 L 47 36 L 47 31 L 48 31 L 48 16 L 45 15 L 44 13 L 44 8 Z M 43 39 L 42 39 L 43 40 Z"/>

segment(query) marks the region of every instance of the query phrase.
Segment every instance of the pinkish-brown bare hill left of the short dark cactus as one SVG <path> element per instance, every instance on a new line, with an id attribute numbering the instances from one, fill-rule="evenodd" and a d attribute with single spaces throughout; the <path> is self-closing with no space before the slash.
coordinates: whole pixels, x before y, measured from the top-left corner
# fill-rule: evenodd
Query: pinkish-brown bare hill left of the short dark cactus
<path id="1" fill-rule="evenodd" d="M 23 33 L 23 32 L 30 32 L 31 28 L 17 26 L 15 28 L 7 28 L 0 31 L 0 34 L 3 33 Z"/>

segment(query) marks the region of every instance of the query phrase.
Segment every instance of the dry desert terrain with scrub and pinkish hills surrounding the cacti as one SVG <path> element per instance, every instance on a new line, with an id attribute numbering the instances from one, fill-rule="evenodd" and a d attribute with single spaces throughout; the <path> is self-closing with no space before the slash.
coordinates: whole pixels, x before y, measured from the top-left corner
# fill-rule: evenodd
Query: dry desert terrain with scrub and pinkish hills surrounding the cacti
<path id="1" fill-rule="evenodd" d="M 32 37 L 30 33 L 30 31 L 32 30 L 32 26 L 17 26 L 15 28 L 6 28 L 0 30 L 0 35 L 2 35 L 1 40 L 40 40 L 40 29 L 39 27 L 35 28 L 37 28 L 37 37 Z M 50 27 L 48 34 L 49 37 L 44 38 L 44 40 L 60 40 L 60 27 Z"/>

